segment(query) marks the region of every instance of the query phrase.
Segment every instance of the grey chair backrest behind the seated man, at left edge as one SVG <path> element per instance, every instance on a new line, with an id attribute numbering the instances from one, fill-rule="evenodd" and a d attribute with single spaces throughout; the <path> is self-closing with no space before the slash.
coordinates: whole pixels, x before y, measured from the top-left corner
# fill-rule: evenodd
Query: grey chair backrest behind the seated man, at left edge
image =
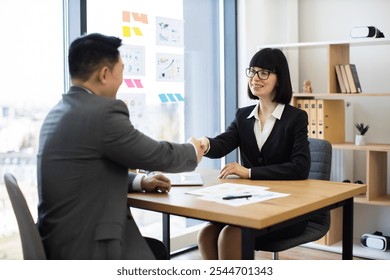
<path id="1" fill-rule="evenodd" d="M 23 258 L 25 260 L 45 260 L 46 254 L 41 236 L 18 182 L 10 173 L 4 175 L 4 182 L 18 222 Z"/>

